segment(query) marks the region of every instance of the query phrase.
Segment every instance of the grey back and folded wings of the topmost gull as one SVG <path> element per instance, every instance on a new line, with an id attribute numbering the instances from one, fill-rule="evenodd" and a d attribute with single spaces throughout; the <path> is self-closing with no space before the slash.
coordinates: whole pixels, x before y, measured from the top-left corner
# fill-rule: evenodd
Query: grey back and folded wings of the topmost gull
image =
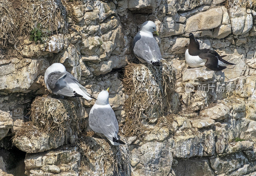
<path id="1" fill-rule="evenodd" d="M 162 58 L 159 46 L 152 37 L 141 36 L 140 39 L 135 42 L 133 52 L 136 57 L 145 60 L 149 64 L 160 61 Z"/>

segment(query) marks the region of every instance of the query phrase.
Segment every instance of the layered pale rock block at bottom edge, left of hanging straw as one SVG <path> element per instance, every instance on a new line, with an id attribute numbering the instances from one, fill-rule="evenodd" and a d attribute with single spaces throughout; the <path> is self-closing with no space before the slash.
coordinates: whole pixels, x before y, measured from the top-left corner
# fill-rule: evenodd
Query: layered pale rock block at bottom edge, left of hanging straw
<path id="1" fill-rule="evenodd" d="M 77 147 L 63 146 L 45 152 L 27 154 L 24 162 L 26 174 L 29 176 L 78 176 L 81 155 Z"/>

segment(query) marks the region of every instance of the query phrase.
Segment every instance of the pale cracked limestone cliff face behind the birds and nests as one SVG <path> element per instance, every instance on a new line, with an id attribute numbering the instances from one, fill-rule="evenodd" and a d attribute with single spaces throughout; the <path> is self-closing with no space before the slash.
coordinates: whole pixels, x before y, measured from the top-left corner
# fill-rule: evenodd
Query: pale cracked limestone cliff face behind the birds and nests
<path id="1" fill-rule="evenodd" d="M 30 176 L 256 175 L 254 0 L 43 2 L 52 7 L 48 13 L 58 12 L 47 18 L 44 5 L 41 9 L 30 6 L 35 14 L 42 9 L 45 12 L 37 15 L 44 24 L 40 30 L 50 30 L 43 42 L 33 42 L 24 35 L 15 45 L 10 40 L 10 45 L 0 49 L 0 175 L 18 175 L 17 167 Z M 5 10 L 4 3 L 10 6 L 11 1 L 0 2 L 0 11 Z M 32 19 L 38 20 L 34 13 Z M 10 9 L 5 14 L 1 19 L 10 20 L 8 14 L 11 17 L 14 13 Z M 57 21 L 46 25 L 46 19 Z M 156 40 L 162 57 L 176 70 L 176 85 L 165 117 L 149 121 L 142 116 L 146 130 L 138 138 L 123 130 L 127 122 L 125 101 L 131 96 L 123 80 L 124 66 L 135 59 L 133 37 L 146 20 L 156 23 L 160 34 Z M 15 20 L 10 23 L 13 27 Z M 11 37 L 7 32 L 0 36 Z M 189 68 L 184 53 L 190 32 L 198 38 L 201 49 L 227 55 L 225 59 L 236 65 L 224 72 Z M 16 54 L 8 55 L 8 46 Z M 127 145 L 112 148 L 104 140 L 84 135 L 94 100 L 80 101 L 78 131 L 71 127 L 74 123 L 70 119 L 61 135 L 58 130 L 40 131 L 38 124 L 30 123 L 31 103 L 36 96 L 49 93 L 44 87 L 44 72 L 55 62 L 65 65 L 95 97 L 110 87 L 109 102 Z M 29 131 L 22 131 L 27 128 Z M 14 148 L 17 153 L 26 152 L 18 166 L 15 158 L 20 156 L 12 152 Z"/>

